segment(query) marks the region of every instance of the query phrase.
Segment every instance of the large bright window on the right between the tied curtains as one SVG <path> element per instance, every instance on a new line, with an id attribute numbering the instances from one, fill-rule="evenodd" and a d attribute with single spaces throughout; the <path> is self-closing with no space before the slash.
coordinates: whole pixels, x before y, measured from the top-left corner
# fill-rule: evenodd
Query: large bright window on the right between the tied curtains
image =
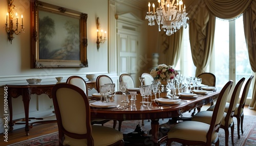
<path id="1" fill-rule="evenodd" d="M 232 21 L 216 19 L 214 54 L 210 63 L 210 72 L 214 72 L 218 77 L 216 86 L 220 87 L 223 87 L 228 80 L 237 83 L 245 77 L 247 81 L 253 74 L 245 42 L 243 16 Z M 250 88 L 248 98 L 251 95 Z"/>

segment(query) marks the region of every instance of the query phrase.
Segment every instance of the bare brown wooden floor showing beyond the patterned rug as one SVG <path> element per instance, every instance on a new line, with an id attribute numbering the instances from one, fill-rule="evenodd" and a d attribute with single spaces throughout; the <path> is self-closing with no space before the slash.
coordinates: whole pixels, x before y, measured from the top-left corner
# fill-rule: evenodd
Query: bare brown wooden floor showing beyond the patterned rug
<path id="1" fill-rule="evenodd" d="M 245 106 L 244 108 L 244 114 L 245 115 L 256 115 L 255 110 L 248 109 L 248 106 Z M 31 139 L 34 137 L 38 137 L 41 135 L 50 134 L 53 132 L 57 132 L 58 127 L 56 123 L 52 124 L 38 124 L 34 125 L 32 129 L 29 131 L 29 136 L 26 135 L 24 128 L 13 130 L 12 132 L 8 133 L 8 142 L 3 141 L 2 137 L 4 136 L 3 133 L 0 134 L 1 141 L 0 145 L 8 145 L 12 143 L 16 143 L 19 141 L 24 141 L 27 139 Z"/>

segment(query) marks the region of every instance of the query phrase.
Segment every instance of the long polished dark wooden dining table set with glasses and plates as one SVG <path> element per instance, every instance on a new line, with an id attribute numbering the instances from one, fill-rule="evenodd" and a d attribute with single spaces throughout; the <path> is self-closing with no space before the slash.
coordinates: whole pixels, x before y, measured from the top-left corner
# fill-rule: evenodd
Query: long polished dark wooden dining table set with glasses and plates
<path id="1" fill-rule="evenodd" d="M 172 105 L 162 105 L 158 102 L 155 102 L 155 96 L 151 96 L 148 98 L 149 103 L 145 104 L 146 106 L 142 106 L 142 96 L 139 94 L 136 95 L 136 105 L 131 105 L 130 103 L 122 103 L 123 100 L 122 94 L 115 94 L 114 103 L 116 103 L 117 107 L 112 108 L 101 108 L 101 107 L 91 107 L 91 118 L 101 118 L 101 119 L 110 119 L 110 120 L 141 120 L 141 119 L 151 119 L 151 131 L 152 136 L 151 139 L 155 143 L 155 145 L 159 145 L 159 143 L 163 142 L 163 137 L 159 134 L 159 119 L 162 118 L 175 118 L 179 117 L 182 113 L 187 111 L 191 111 L 195 108 L 202 107 L 205 104 L 212 102 L 214 99 L 218 98 L 220 90 L 209 91 L 206 94 L 198 94 L 195 98 L 178 98 L 181 100 L 177 104 Z M 159 98 L 157 96 L 157 98 Z M 169 98 L 169 96 L 165 96 L 162 98 Z M 99 97 L 90 96 L 89 99 L 91 102 L 93 100 L 99 100 Z M 128 108 L 118 109 L 119 107 L 130 105 Z"/>

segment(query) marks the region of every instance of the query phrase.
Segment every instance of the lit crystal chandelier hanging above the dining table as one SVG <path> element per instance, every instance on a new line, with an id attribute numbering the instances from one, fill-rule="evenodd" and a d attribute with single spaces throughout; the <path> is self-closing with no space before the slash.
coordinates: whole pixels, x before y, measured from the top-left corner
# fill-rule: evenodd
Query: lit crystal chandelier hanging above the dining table
<path id="1" fill-rule="evenodd" d="M 153 3 L 153 12 L 151 9 L 151 4 L 148 2 L 148 12 L 146 15 L 146 19 L 148 19 L 148 26 L 154 26 L 155 20 L 158 24 L 159 32 L 161 29 L 166 32 L 167 36 L 174 34 L 177 30 L 179 30 L 182 26 L 184 28 L 187 27 L 187 17 L 186 7 L 182 0 L 158 0 L 158 7 L 155 11 L 155 4 Z M 160 29 L 161 26 L 161 29 Z"/>

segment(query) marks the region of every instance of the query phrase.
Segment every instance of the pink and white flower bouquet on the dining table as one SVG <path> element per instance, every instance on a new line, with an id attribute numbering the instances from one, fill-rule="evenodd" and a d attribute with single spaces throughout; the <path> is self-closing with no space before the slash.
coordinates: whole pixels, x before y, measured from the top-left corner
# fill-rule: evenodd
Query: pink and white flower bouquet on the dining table
<path id="1" fill-rule="evenodd" d="M 174 79 L 178 72 L 173 68 L 173 66 L 160 64 L 157 68 L 151 70 L 150 75 L 157 81 L 162 79 Z"/>

